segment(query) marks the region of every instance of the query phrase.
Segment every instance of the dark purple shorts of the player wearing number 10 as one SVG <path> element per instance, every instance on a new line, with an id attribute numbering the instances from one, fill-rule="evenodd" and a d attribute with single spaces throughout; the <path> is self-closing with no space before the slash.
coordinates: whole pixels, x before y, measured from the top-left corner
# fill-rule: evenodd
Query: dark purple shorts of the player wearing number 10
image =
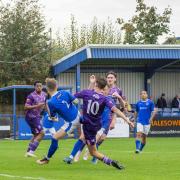
<path id="1" fill-rule="evenodd" d="M 96 144 L 96 134 L 101 127 L 94 127 L 90 124 L 83 124 L 83 133 L 85 137 L 85 141 L 87 145 L 95 145 Z"/>

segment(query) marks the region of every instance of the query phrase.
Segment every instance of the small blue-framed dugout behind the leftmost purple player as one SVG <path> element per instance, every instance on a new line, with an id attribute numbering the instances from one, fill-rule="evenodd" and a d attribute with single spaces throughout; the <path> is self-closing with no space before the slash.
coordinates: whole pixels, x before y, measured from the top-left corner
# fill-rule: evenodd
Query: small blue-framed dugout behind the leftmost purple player
<path id="1" fill-rule="evenodd" d="M 59 89 L 72 92 L 72 86 L 61 86 Z M 34 86 L 30 85 L 0 88 L 0 138 L 31 138 L 30 129 L 25 122 L 24 104 L 27 95 L 33 90 Z"/>

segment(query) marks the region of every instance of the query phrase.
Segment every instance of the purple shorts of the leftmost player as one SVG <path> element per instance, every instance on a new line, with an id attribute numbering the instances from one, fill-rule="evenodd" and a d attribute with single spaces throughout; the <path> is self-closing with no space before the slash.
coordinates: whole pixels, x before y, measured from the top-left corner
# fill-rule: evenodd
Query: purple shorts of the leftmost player
<path id="1" fill-rule="evenodd" d="M 43 127 L 42 127 L 40 121 L 41 121 L 41 119 L 26 118 L 26 122 L 28 123 L 28 125 L 31 128 L 32 134 L 37 135 L 43 130 Z"/>

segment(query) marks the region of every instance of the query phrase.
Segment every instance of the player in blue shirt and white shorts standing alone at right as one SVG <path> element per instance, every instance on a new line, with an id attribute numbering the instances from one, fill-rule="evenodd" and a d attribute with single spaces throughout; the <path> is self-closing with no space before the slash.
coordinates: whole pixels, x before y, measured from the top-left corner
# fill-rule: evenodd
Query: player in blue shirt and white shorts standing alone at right
<path id="1" fill-rule="evenodd" d="M 146 91 L 141 91 L 141 100 L 136 104 L 136 119 L 137 119 L 137 134 L 136 134 L 136 153 L 143 150 L 146 145 L 146 138 L 150 130 L 151 121 L 154 118 L 156 111 L 154 103 L 148 99 Z"/>

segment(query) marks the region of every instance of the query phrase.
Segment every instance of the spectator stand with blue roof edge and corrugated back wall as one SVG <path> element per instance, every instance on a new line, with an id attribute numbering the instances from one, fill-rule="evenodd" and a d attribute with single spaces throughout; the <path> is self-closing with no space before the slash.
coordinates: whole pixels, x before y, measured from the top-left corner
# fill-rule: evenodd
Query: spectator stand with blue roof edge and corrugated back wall
<path id="1" fill-rule="evenodd" d="M 87 88 L 91 74 L 105 76 L 109 70 L 117 73 L 117 85 L 131 104 L 145 89 L 155 102 L 165 93 L 170 107 L 180 93 L 180 46 L 87 45 L 53 64 L 59 85 L 72 85 L 73 92 Z"/>

